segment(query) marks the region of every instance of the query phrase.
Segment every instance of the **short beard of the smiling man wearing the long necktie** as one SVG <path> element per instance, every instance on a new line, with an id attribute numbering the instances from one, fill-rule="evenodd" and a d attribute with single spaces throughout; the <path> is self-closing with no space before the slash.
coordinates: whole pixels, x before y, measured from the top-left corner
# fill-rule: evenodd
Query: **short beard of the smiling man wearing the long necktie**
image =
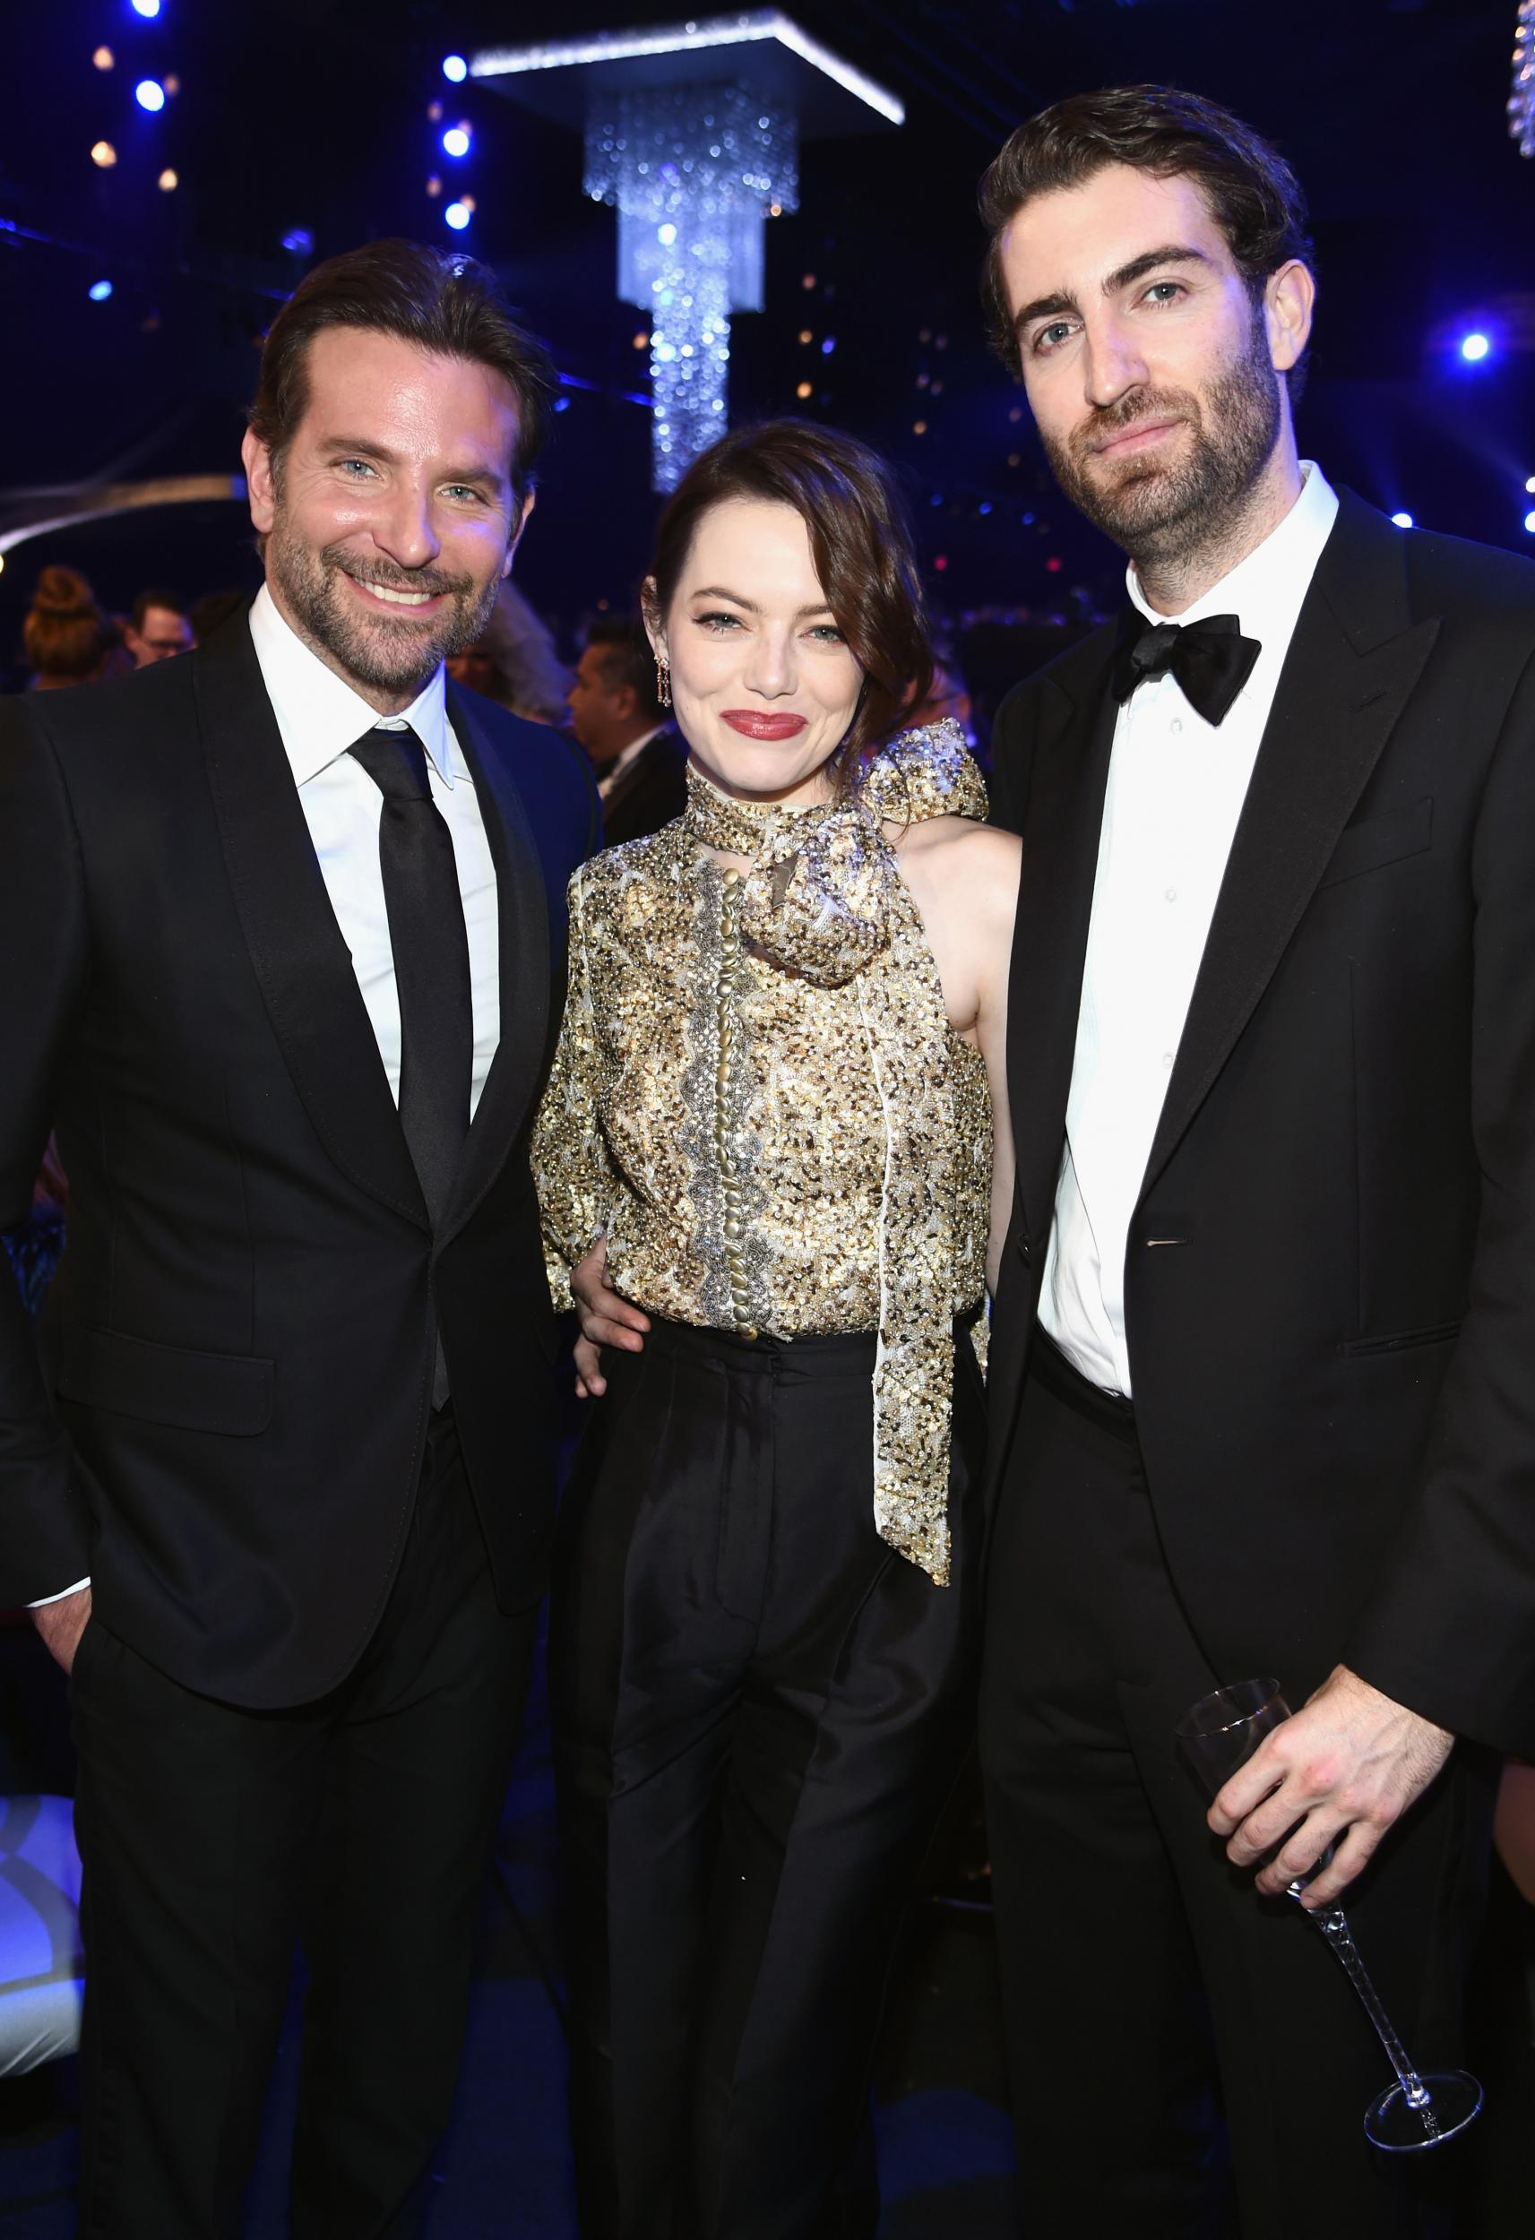
<path id="1" fill-rule="evenodd" d="M 280 506 L 267 538 L 267 567 L 300 632 L 354 683 L 383 692 L 424 685 L 448 654 L 466 652 L 484 634 L 502 587 L 500 576 L 477 585 L 473 576 L 448 576 L 432 567 L 401 569 L 361 560 L 345 544 L 316 551 L 294 533 Z M 343 573 L 385 591 L 446 594 L 450 605 L 430 620 L 415 620 L 408 609 L 399 618 L 361 614 L 341 587 Z"/>

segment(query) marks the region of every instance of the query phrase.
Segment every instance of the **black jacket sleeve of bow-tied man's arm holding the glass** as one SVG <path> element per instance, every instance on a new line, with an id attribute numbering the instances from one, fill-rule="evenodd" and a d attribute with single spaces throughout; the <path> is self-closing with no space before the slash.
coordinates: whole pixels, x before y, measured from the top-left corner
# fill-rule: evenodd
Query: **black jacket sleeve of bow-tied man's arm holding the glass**
<path id="1" fill-rule="evenodd" d="M 1466 1317 L 1416 1499 L 1345 1662 L 1454 1734 L 1535 1756 L 1535 659 L 1472 840 Z"/>

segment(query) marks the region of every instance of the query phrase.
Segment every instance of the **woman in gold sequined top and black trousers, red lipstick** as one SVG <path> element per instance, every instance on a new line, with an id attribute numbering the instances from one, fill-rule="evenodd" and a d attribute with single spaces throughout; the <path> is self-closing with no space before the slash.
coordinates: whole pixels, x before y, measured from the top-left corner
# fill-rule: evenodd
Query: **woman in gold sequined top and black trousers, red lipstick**
<path id="1" fill-rule="evenodd" d="M 813 2240 L 874 2229 L 838 2188 L 968 1732 L 1020 862 L 952 724 L 890 737 L 930 652 L 863 446 L 717 444 L 645 612 L 688 809 L 571 883 L 533 1142 L 594 1398 L 551 1628 L 580 2213 Z"/>

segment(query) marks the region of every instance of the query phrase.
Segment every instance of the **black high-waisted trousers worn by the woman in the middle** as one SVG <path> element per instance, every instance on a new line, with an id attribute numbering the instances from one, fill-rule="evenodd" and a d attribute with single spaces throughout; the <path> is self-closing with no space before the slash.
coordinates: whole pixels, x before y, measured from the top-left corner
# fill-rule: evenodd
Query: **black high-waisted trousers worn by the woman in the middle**
<path id="1" fill-rule="evenodd" d="M 984 1429 L 961 1340 L 934 1586 L 874 1530 L 872 1369 L 666 1324 L 603 1357 L 551 1622 L 587 2240 L 874 2229 L 843 2173 L 970 1727 Z"/>

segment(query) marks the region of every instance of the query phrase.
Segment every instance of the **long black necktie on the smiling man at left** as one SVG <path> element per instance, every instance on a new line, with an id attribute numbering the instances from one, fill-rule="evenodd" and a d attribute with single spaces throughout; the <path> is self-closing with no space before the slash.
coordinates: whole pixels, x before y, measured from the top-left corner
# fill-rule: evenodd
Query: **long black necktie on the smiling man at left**
<path id="1" fill-rule="evenodd" d="M 399 990 L 399 1124 L 437 1230 L 468 1136 L 475 1068 L 468 934 L 453 833 L 432 802 L 426 748 L 410 726 L 363 732 L 352 755 L 383 795 L 379 867 Z M 446 1396 L 439 1346 L 432 1404 L 441 1407 Z"/>

